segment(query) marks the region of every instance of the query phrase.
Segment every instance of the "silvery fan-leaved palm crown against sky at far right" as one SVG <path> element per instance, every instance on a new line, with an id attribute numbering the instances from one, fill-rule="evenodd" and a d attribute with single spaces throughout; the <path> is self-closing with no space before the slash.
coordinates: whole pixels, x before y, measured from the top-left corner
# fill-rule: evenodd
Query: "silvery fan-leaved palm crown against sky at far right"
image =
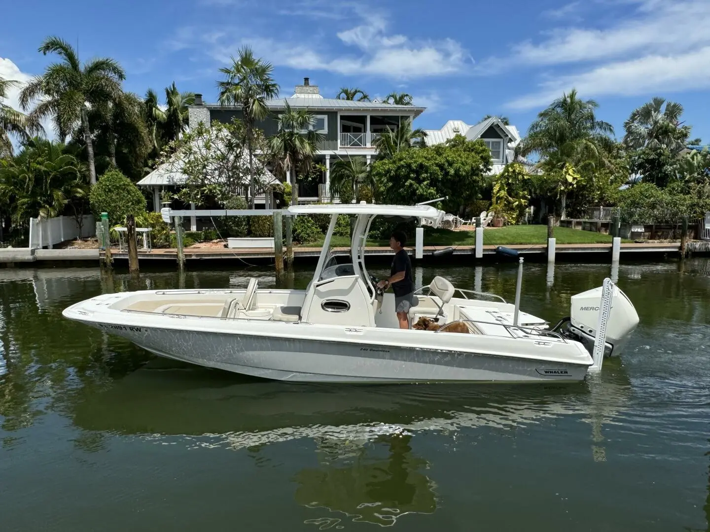
<path id="1" fill-rule="evenodd" d="M 663 108 L 665 104 L 665 109 Z M 623 123 L 626 131 L 623 143 L 627 148 L 665 148 L 677 155 L 687 145 L 690 126 L 683 126 L 680 117 L 683 106 L 656 96 L 634 109 Z"/>

